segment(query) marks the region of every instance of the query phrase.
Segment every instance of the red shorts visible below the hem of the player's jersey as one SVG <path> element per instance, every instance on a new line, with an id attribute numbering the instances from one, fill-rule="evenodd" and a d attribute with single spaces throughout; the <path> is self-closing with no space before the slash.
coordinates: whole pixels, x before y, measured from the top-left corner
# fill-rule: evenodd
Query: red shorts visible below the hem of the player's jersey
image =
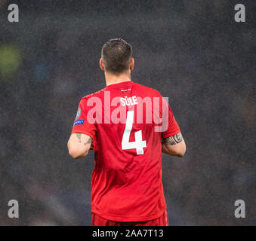
<path id="1" fill-rule="evenodd" d="M 122 222 L 122 221 L 110 221 L 100 217 L 96 213 L 91 213 L 93 226 L 168 226 L 168 215 L 165 210 L 159 218 L 148 221 L 134 221 L 134 222 Z"/>

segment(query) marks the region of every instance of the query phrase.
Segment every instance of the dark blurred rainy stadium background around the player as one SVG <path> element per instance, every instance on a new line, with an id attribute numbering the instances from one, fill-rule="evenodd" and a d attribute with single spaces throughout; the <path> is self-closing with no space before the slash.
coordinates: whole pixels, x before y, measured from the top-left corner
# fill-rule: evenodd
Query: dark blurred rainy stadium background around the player
<path id="1" fill-rule="evenodd" d="M 66 142 L 79 100 L 105 86 L 109 38 L 132 44 L 133 80 L 169 97 L 187 142 L 181 159 L 162 155 L 169 224 L 256 225 L 255 4 L 0 0 L 0 225 L 91 225 L 94 155 L 72 160 Z"/>

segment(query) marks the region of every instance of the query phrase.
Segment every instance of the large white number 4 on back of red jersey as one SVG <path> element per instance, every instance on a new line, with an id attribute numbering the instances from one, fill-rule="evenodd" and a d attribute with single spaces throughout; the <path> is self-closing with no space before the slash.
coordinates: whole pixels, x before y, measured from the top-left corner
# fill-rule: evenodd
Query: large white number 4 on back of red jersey
<path id="1" fill-rule="evenodd" d="M 129 142 L 132 123 L 134 121 L 134 111 L 127 112 L 125 131 L 122 135 L 122 150 L 136 149 L 137 155 L 144 154 L 143 148 L 147 147 L 146 141 L 142 140 L 142 132 L 138 130 L 135 133 L 135 142 Z"/>

